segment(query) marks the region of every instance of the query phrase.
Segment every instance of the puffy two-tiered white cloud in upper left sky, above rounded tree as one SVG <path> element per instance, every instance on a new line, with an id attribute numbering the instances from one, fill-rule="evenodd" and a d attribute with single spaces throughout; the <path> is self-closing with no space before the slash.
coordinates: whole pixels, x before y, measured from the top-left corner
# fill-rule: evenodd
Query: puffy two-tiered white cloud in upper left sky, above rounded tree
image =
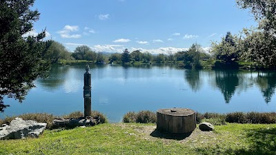
<path id="1" fill-rule="evenodd" d="M 65 25 L 63 30 L 57 32 L 60 34 L 61 38 L 81 38 L 81 34 L 71 34 L 71 32 L 78 32 L 79 26 L 77 25 Z"/>

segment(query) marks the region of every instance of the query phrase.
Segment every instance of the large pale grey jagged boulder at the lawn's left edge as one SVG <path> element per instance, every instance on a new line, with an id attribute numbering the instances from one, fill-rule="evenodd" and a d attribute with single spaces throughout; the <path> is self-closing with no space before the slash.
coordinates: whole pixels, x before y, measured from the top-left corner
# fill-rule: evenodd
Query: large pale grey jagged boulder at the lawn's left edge
<path id="1" fill-rule="evenodd" d="M 10 125 L 0 127 L 0 139 L 20 139 L 26 137 L 39 137 L 45 130 L 47 123 L 36 121 L 24 121 L 22 118 L 14 118 Z"/>

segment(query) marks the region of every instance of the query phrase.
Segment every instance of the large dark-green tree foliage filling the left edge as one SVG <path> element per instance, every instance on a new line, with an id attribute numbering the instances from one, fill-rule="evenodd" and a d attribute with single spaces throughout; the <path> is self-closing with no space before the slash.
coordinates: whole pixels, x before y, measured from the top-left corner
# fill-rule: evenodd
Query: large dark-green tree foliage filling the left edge
<path id="1" fill-rule="evenodd" d="M 0 111 L 8 105 L 3 97 L 8 96 L 22 102 L 32 81 L 46 76 L 50 63 L 43 61 L 52 41 L 43 41 L 46 31 L 26 36 L 39 19 L 37 10 L 30 10 L 34 0 L 0 1 Z"/>

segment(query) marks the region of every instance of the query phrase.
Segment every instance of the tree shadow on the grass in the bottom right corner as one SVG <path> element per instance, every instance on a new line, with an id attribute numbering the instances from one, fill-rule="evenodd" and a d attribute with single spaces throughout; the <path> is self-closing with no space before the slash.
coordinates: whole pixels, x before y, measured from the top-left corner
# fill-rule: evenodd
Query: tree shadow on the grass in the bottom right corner
<path id="1" fill-rule="evenodd" d="M 199 154 L 245 154 L 245 155 L 275 155 L 276 154 L 276 128 L 260 128 L 245 130 L 248 139 L 248 148 L 233 149 L 216 145 L 215 148 L 197 148 Z"/>

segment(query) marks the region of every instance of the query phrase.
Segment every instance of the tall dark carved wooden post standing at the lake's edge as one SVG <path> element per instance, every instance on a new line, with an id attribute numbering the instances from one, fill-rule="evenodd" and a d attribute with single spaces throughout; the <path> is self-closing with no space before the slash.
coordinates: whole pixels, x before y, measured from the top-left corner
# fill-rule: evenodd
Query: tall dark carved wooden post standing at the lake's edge
<path id="1" fill-rule="evenodd" d="M 91 74 L 89 65 L 86 65 L 86 73 L 84 74 L 83 98 L 84 98 L 84 116 L 91 115 Z"/>

